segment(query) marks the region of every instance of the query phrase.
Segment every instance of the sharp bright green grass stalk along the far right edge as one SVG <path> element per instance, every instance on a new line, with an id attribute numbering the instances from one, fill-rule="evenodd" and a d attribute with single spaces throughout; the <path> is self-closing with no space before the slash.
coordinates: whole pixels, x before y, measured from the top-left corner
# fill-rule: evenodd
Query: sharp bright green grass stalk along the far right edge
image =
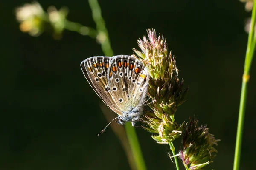
<path id="1" fill-rule="evenodd" d="M 247 97 L 247 84 L 250 79 L 250 66 L 251 66 L 253 54 L 255 51 L 255 35 L 254 35 L 254 27 L 255 27 L 255 19 L 256 19 L 255 17 L 256 17 L 256 4 L 254 3 L 250 31 L 248 36 L 245 62 L 244 62 L 244 74 L 243 74 L 243 82 L 242 82 L 242 89 L 241 89 L 239 118 L 238 118 L 238 125 L 237 125 L 237 134 L 236 134 L 236 150 L 235 150 L 233 170 L 239 170 L 242 134 L 243 134 L 243 127 L 244 127 L 245 105 L 246 105 L 246 97 Z"/>

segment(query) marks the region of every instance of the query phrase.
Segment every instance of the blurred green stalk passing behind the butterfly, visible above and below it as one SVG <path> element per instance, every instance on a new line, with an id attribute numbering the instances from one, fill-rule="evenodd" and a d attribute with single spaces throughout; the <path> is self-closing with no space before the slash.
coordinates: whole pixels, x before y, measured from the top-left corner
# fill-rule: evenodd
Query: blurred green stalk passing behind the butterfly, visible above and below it
<path id="1" fill-rule="evenodd" d="M 102 45 L 102 51 L 105 54 L 105 56 L 113 56 L 113 50 L 111 48 L 110 40 L 108 37 L 108 30 L 105 27 L 105 22 L 101 15 L 101 9 L 100 9 L 99 3 L 97 0 L 88 0 L 88 2 L 92 10 L 93 20 L 96 23 L 96 29 L 98 31 L 97 40 Z M 131 123 L 126 123 L 125 130 L 126 130 L 128 141 L 131 147 L 131 153 L 133 154 L 133 158 L 134 158 L 134 162 L 136 164 L 137 170 L 146 170 L 145 161 L 143 158 L 142 151 L 140 149 L 140 143 L 137 138 L 134 127 L 131 125 Z M 113 129 L 113 131 L 115 130 Z M 116 133 L 116 135 L 120 135 L 120 133 Z M 119 136 L 119 139 L 120 138 L 121 136 Z M 120 140 L 120 141 L 122 142 L 123 140 Z M 125 151 L 128 152 L 128 150 L 126 149 Z M 129 153 L 126 153 L 126 155 L 129 155 Z M 128 160 L 128 162 L 130 163 L 131 161 Z M 130 164 L 130 167 L 133 167 L 133 164 Z"/>

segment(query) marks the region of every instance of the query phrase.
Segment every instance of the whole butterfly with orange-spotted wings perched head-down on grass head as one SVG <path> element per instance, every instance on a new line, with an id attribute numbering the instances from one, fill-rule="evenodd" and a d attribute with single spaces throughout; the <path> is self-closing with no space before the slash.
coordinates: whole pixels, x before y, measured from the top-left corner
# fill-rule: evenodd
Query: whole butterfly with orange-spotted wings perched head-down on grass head
<path id="1" fill-rule="evenodd" d="M 118 114 L 117 123 L 134 126 L 139 121 L 149 81 L 143 62 L 128 55 L 97 56 L 82 61 L 81 69 L 96 94 Z"/>

